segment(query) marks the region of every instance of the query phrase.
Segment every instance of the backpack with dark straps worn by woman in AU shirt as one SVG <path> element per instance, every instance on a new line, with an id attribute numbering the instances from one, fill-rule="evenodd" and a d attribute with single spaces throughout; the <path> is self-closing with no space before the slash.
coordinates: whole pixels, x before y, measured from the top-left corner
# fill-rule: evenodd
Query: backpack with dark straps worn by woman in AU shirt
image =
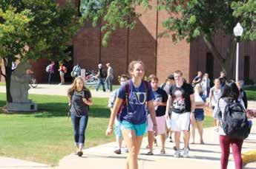
<path id="1" fill-rule="evenodd" d="M 148 97 L 148 89 L 149 89 L 149 83 L 145 80 L 142 80 L 142 83 L 144 84 L 145 86 L 145 89 L 146 89 L 146 98 Z M 130 80 L 128 80 L 128 82 L 125 83 L 125 100 L 122 100 L 122 104 L 119 108 L 119 111 L 117 111 L 117 117 L 119 119 L 119 114 L 121 114 L 123 108 L 127 108 L 127 112 L 128 112 L 128 97 L 130 95 L 130 88 L 131 88 L 131 82 Z"/>

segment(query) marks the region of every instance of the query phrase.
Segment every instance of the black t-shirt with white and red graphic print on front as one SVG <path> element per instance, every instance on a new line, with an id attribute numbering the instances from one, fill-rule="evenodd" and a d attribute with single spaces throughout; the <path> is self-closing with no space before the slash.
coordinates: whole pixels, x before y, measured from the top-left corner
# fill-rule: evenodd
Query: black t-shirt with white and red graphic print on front
<path id="1" fill-rule="evenodd" d="M 194 89 L 190 84 L 183 83 L 181 87 L 174 84 L 170 88 L 170 94 L 172 97 L 171 111 L 179 114 L 191 111 L 190 95 L 194 94 Z"/>

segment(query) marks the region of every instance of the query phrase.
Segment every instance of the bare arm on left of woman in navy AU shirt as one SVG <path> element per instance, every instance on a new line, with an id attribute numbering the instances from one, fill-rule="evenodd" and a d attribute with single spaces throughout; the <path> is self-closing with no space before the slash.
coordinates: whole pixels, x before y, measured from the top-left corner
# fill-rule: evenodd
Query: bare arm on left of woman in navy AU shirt
<path id="1" fill-rule="evenodd" d="M 112 134 L 112 132 L 113 132 L 113 125 L 114 125 L 114 121 L 115 121 L 115 118 L 116 118 L 116 114 L 119 111 L 119 107 L 121 105 L 122 105 L 122 99 L 117 97 L 116 101 L 114 103 L 114 107 L 112 108 L 112 111 L 111 111 L 111 118 L 110 118 L 109 123 L 108 123 L 108 129 L 106 131 L 106 135 Z"/>

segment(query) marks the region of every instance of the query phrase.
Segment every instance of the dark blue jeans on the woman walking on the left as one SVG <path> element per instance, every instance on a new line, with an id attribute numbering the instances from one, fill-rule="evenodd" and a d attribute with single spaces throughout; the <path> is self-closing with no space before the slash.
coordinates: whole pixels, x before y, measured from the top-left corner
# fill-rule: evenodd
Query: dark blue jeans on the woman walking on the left
<path id="1" fill-rule="evenodd" d="M 77 117 L 76 114 L 71 114 L 73 123 L 73 132 L 76 145 L 84 146 L 85 144 L 85 129 L 88 123 L 88 115 Z"/>

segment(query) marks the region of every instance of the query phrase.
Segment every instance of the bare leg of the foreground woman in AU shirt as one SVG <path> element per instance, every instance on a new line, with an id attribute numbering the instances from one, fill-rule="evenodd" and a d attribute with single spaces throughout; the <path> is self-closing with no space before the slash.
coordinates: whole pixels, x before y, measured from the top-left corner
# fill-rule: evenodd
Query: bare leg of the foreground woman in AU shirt
<path id="1" fill-rule="evenodd" d="M 128 147 L 126 169 L 138 169 L 137 161 L 137 138 L 134 130 L 123 129 L 122 135 Z M 139 143 L 139 142 L 138 142 Z"/>

